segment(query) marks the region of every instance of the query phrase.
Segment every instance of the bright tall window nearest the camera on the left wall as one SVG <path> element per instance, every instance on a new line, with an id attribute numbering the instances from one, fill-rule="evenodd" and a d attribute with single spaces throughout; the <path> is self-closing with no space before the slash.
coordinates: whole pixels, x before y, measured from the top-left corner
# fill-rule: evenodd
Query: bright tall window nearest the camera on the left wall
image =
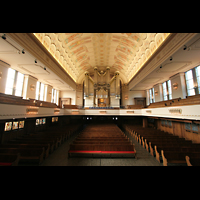
<path id="1" fill-rule="evenodd" d="M 22 96 L 24 75 L 14 69 L 8 69 L 5 94 Z"/>

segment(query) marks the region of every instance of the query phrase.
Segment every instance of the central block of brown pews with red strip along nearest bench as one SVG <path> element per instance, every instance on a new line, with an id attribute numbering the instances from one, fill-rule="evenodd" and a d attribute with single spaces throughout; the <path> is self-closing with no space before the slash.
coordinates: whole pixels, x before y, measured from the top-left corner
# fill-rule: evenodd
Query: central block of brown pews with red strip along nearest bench
<path id="1" fill-rule="evenodd" d="M 87 125 L 68 151 L 69 157 L 135 157 L 132 141 L 115 124 Z"/>

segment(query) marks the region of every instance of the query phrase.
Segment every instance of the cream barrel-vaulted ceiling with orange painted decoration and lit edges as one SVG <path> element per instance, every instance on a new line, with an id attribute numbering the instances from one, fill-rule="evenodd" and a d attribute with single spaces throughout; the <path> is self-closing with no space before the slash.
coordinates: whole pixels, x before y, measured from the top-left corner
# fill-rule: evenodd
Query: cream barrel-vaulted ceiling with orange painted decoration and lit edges
<path id="1" fill-rule="evenodd" d="M 77 82 L 85 72 L 119 71 L 127 83 L 169 33 L 34 33 Z"/>

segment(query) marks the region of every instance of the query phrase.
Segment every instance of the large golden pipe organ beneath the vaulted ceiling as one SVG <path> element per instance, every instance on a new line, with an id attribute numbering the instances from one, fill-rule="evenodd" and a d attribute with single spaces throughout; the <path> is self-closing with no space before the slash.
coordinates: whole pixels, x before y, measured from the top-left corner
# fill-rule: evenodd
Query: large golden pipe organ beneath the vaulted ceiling
<path id="1" fill-rule="evenodd" d="M 119 72 L 110 75 L 110 68 L 99 71 L 94 68 L 94 74 L 85 72 L 84 99 L 85 107 L 117 107 L 120 106 Z M 112 95 L 112 96 L 111 96 Z M 114 98 L 113 98 L 114 97 Z M 112 101 L 111 101 L 112 98 Z"/>

